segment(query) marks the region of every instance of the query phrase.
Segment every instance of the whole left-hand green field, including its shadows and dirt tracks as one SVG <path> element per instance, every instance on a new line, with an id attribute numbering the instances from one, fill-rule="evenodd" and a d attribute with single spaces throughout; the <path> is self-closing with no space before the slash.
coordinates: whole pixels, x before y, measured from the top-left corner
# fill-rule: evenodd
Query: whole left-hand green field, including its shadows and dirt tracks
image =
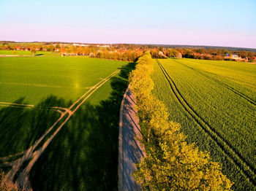
<path id="1" fill-rule="evenodd" d="M 116 190 L 119 109 L 133 68 L 0 58 L 0 169 L 33 190 Z"/>

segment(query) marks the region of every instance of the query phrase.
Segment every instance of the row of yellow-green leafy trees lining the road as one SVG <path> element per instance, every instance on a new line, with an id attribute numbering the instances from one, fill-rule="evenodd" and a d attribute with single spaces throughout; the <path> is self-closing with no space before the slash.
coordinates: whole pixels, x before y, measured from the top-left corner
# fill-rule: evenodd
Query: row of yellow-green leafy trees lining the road
<path id="1" fill-rule="evenodd" d="M 143 190 L 231 190 L 218 163 L 194 144 L 187 144 L 181 125 L 169 120 L 165 104 L 153 94 L 151 55 L 138 59 L 129 75 L 130 89 L 137 99 L 138 117 L 146 157 L 137 164 L 135 180 Z"/>

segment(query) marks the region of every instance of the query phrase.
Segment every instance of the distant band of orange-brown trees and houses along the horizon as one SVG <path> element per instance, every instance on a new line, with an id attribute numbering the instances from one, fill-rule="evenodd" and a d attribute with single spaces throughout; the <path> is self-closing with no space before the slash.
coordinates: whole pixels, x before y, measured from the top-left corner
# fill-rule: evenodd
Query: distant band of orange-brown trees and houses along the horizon
<path id="1" fill-rule="evenodd" d="M 232 50 L 231 50 L 232 49 Z M 92 58 L 105 58 L 119 61 L 136 61 L 143 52 L 150 52 L 152 58 L 195 58 L 215 61 L 256 61 L 256 52 L 231 48 L 230 50 L 208 47 L 158 47 L 157 45 L 141 44 L 64 44 L 59 42 L 33 42 L 0 44 L 0 50 L 26 50 L 59 52 L 63 55 L 89 55 Z M 249 50 L 249 49 L 248 49 Z M 253 49 L 252 49 L 253 50 Z"/>

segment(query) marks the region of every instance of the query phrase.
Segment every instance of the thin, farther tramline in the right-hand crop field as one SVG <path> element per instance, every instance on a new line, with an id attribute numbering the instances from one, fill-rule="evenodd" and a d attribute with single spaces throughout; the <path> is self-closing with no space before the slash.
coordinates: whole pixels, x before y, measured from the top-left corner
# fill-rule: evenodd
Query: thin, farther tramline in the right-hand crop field
<path id="1" fill-rule="evenodd" d="M 190 66 L 187 66 L 187 65 L 184 64 L 184 63 L 181 63 L 181 62 L 179 62 L 179 61 L 175 61 L 175 62 L 181 64 L 182 66 L 187 67 L 188 69 L 192 69 L 193 71 L 195 71 L 195 72 L 201 74 L 201 75 L 204 76 L 204 77 L 207 77 L 208 79 L 213 80 L 214 82 L 217 82 L 219 85 L 222 85 L 222 86 L 226 87 L 228 90 L 232 91 L 233 93 L 236 93 L 236 95 L 239 95 L 241 98 L 244 98 L 246 101 L 249 101 L 249 103 L 251 103 L 251 104 L 253 104 L 254 106 L 256 106 L 256 101 L 254 101 L 254 100 L 252 100 L 252 98 L 249 98 L 248 96 L 244 95 L 244 93 L 239 92 L 239 91 L 236 90 L 235 88 L 230 87 L 229 85 L 226 85 L 226 84 L 223 83 L 223 82 L 220 82 L 218 79 L 215 79 L 215 78 L 213 78 L 213 77 L 209 77 L 207 74 L 203 74 L 203 72 L 198 71 L 197 69 L 194 69 L 194 68 L 192 68 L 192 67 L 190 67 Z"/>

